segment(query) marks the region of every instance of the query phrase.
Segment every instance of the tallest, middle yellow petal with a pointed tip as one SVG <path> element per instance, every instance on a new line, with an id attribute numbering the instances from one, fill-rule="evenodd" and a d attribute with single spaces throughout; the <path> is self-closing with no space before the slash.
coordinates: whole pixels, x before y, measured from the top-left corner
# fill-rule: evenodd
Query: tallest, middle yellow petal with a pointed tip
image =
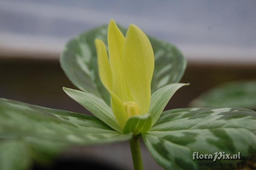
<path id="1" fill-rule="evenodd" d="M 113 92 L 122 100 L 130 101 L 129 90 L 126 85 L 123 71 L 123 53 L 125 38 L 117 28 L 115 22 L 110 20 L 108 26 L 109 61 L 113 76 Z"/>

